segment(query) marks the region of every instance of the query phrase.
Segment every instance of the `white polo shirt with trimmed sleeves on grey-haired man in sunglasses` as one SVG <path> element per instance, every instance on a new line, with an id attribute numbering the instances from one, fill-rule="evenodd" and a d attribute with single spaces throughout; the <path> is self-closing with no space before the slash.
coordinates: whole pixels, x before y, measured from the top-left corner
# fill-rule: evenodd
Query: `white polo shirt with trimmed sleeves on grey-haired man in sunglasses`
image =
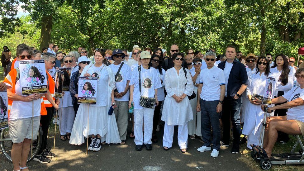
<path id="1" fill-rule="evenodd" d="M 211 69 L 203 69 L 199 74 L 199 83 L 203 84 L 201 99 L 206 101 L 220 100 L 221 85 L 225 85 L 224 71 L 213 66 Z"/>

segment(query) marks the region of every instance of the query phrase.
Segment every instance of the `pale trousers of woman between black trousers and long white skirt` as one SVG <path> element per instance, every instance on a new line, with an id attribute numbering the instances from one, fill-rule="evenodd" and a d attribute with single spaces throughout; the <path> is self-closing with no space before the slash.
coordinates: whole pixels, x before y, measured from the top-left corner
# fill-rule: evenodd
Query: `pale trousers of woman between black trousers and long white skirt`
<path id="1" fill-rule="evenodd" d="M 58 115 L 59 115 L 59 121 L 60 121 L 60 135 L 65 135 L 66 133 L 71 133 L 74 119 L 75 119 L 75 113 L 73 106 L 69 107 L 62 107 L 62 113 L 61 113 L 61 107 L 58 109 Z"/>

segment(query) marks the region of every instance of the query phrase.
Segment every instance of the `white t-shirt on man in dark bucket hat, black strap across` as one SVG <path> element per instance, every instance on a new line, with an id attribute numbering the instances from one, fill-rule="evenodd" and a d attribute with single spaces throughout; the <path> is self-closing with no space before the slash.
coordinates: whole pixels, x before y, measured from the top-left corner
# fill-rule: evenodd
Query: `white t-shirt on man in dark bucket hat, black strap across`
<path id="1" fill-rule="evenodd" d="M 117 73 L 121 64 L 115 65 L 113 63 L 113 64 L 109 65 L 109 67 L 112 69 L 112 72 L 114 74 L 114 78 L 115 78 L 115 75 L 116 75 L 116 73 Z M 116 82 L 115 82 L 115 87 L 117 88 L 118 93 L 121 93 L 121 92 L 125 91 L 127 82 L 128 82 L 128 80 L 131 79 L 131 73 L 132 72 L 131 72 L 131 68 L 129 67 L 129 65 L 123 64 L 119 74 L 117 75 Z M 114 100 L 117 100 L 117 101 L 127 101 L 127 102 L 129 102 L 129 99 L 130 99 L 130 91 L 129 90 L 121 98 L 114 97 Z"/>

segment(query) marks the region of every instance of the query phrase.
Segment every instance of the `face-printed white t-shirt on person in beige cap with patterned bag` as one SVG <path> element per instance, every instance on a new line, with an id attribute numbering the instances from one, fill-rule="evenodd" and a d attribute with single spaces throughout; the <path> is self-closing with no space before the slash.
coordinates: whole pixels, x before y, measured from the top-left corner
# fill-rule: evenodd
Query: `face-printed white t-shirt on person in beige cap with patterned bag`
<path id="1" fill-rule="evenodd" d="M 139 72 L 138 69 L 135 68 L 132 72 L 132 77 L 130 80 L 130 86 L 134 85 L 134 91 L 133 91 L 133 102 L 134 102 L 134 109 L 143 109 L 144 107 L 140 106 L 140 92 L 139 92 L 139 86 L 141 86 L 141 95 L 145 97 L 154 97 L 155 90 L 161 88 L 161 82 L 159 79 L 159 75 L 153 67 L 150 67 L 150 69 L 144 69 L 144 67 L 141 65 L 141 71 L 140 71 L 140 80 L 141 83 L 139 85 Z"/>

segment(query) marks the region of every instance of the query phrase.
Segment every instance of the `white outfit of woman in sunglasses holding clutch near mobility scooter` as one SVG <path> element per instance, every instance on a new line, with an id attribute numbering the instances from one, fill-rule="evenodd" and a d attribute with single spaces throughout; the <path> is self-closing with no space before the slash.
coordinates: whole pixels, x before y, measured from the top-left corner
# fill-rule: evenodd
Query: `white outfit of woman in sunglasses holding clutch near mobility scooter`
<path id="1" fill-rule="evenodd" d="M 275 78 L 273 74 L 269 73 L 269 77 Z M 246 94 L 253 95 L 254 93 L 264 96 L 266 85 L 266 75 L 258 72 L 257 74 L 252 74 L 249 78 L 249 86 L 246 88 Z M 276 86 L 273 85 L 273 90 Z M 272 98 L 274 97 L 274 91 L 272 93 Z M 245 120 L 243 127 L 243 134 L 248 135 L 247 147 L 251 149 L 249 144 L 259 145 L 262 133 L 262 122 L 264 119 L 264 112 L 261 109 L 261 105 L 254 105 L 249 103 L 247 110 L 245 112 Z"/>

